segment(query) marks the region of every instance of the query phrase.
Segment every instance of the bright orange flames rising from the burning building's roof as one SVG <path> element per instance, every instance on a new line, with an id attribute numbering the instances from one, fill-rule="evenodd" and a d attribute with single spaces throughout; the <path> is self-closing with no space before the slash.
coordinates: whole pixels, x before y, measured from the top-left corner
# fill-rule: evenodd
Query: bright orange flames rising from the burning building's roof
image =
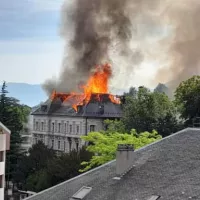
<path id="1" fill-rule="evenodd" d="M 109 94 L 108 81 L 111 76 L 111 65 L 98 65 L 95 67 L 95 70 L 89 77 L 87 83 L 79 86 L 83 90 L 83 93 L 57 93 L 56 91 L 53 91 L 51 99 L 54 100 L 60 98 L 63 102 L 70 103 L 75 111 L 78 111 L 78 106 L 89 103 L 92 94 L 96 94 L 97 101 L 100 101 L 101 94 L 108 94 L 111 102 L 119 104 L 119 98 Z"/>

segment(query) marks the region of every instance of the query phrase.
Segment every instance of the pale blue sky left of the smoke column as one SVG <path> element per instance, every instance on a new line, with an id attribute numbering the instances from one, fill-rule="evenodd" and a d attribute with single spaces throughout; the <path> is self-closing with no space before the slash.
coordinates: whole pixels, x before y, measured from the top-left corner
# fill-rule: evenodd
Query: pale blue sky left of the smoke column
<path id="1" fill-rule="evenodd" d="M 0 81 L 42 83 L 59 73 L 62 4 L 63 0 L 0 0 Z"/>

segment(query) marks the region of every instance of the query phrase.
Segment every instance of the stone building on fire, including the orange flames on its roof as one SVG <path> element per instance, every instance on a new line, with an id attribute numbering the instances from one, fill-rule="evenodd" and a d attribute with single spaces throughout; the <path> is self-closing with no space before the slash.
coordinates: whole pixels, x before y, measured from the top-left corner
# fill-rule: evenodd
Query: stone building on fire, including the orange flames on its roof
<path id="1" fill-rule="evenodd" d="M 38 140 L 57 151 L 69 152 L 84 145 L 80 136 L 103 130 L 105 119 L 122 117 L 120 97 L 108 92 L 108 64 L 97 66 L 80 92 L 53 91 L 33 115 L 33 143 Z"/>

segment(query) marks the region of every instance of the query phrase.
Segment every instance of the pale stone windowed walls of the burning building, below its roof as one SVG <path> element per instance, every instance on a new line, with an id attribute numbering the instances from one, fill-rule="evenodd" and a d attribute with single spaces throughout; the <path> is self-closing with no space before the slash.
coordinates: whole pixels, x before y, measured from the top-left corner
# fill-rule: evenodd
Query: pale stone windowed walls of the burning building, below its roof
<path id="1" fill-rule="evenodd" d="M 32 142 L 41 140 L 56 151 L 70 152 L 85 144 L 80 136 L 103 128 L 103 119 L 99 118 L 34 115 Z"/>

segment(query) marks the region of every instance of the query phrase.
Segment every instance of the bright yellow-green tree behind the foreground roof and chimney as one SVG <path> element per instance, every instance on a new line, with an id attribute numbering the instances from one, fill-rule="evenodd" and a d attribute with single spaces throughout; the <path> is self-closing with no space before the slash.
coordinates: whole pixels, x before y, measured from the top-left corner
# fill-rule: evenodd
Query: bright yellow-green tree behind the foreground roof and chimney
<path id="1" fill-rule="evenodd" d="M 94 155 L 90 161 L 82 162 L 84 168 L 80 171 L 87 171 L 115 159 L 118 144 L 133 144 L 137 149 L 161 138 L 156 131 L 137 133 L 134 129 L 130 133 L 91 132 L 87 136 L 82 136 L 82 139 L 91 143 L 87 150 Z"/>

